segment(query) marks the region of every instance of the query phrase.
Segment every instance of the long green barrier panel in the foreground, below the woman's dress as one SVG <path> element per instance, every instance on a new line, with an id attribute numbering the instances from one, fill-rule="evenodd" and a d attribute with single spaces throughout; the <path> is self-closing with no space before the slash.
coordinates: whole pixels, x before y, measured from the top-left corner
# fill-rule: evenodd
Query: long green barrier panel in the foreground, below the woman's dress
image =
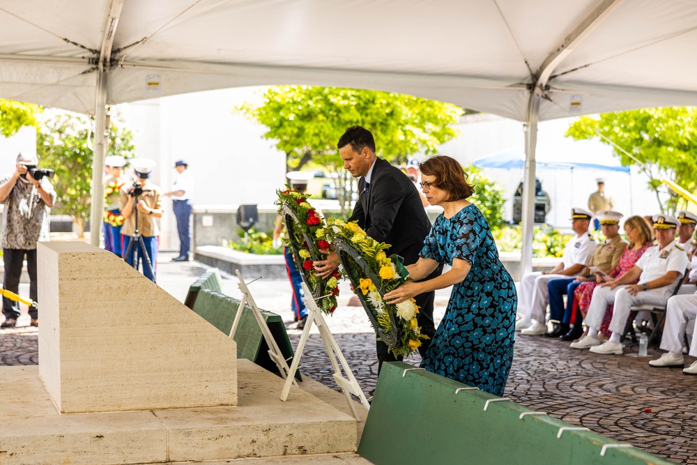
<path id="1" fill-rule="evenodd" d="M 469 386 L 406 363 L 383 364 L 358 453 L 376 465 L 673 463 L 562 420 L 530 415 L 530 409 L 487 392 L 456 393 L 459 388 Z"/>

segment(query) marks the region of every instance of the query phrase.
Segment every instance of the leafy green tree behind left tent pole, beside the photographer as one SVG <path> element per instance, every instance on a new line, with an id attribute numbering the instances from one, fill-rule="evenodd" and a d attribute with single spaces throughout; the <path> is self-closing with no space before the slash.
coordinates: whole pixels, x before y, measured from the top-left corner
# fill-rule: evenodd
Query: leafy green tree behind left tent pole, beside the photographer
<path id="1" fill-rule="evenodd" d="M 40 120 L 36 151 L 42 167 L 56 171 L 52 183 L 56 190 L 54 213 L 71 215 L 78 236 L 90 215 L 93 134 L 89 119 L 59 110 L 46 110 Z M 109 155 L 132 158 L 132 134 L 123 119 L 112 117 L 109 125 Z M 99 218 L 98 220 L 101 220 Z"/>

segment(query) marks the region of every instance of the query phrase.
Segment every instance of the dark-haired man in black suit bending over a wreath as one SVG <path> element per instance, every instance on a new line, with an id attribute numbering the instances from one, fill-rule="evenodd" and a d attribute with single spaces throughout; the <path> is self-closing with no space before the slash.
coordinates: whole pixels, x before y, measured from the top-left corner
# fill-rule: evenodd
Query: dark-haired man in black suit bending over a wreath
<path id="1" fill-rule="evenodd" d="M 375 155 L 373 135 L 365 128 L 348 128 L 339 139 L 337 147 L 339 156 L 344 160 L 344 168 L 348 169 L 354 178 L 360 177 L 360 196 L 348 221 L 358 220 L 358 225 L 368 236 L 390 244 L 387 253 L 404 258 L 404 265 L 415 264 L 423 248 L 424 239 L 431 231 L 431 222 L 424 211 L 415 185 L 397 167 Z M 338 259 L 333 253 L 328 259 L 314 263 L 317 275 L 321 277 L 330 275 L 338 268 Z M 434 273 L 424 280 L 433 279 L 442 271 L 443 266 L 438 266 Z M 434 297 L 434 291 L 415 297 L 416 304 L 420 307 L 418 321 L 421 332 L 429 337 L 419 347 L 422 356 L 436 333 L 433 317 Z M 383 362 L 397 359 L 388 353 L 388 347 L 383 342 L 376 341 L 376 348 L 379 372 Z"/>

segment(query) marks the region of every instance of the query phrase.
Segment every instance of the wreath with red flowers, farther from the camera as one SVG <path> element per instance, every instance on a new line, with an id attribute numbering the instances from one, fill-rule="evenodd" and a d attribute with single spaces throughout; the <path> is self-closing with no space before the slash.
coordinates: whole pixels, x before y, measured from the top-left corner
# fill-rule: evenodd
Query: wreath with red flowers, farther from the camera
<path id="1" fill-rule="evenodd" d="M 313 264 L 326 257 L 327 254 L 320 250 L 331 250 L 331 244 L 323 232 L 323 218 L 309 204 L 307 195 L 286 187 L 288 189 L 276 191 L 278 199 L 275 202 L 286 224 L 287 236 L 284 241 L 293 250 L 298 272 L 312 292 L 317 307 L 325 314 L 332 314 L 337 310 L 339 278 L 342 275 L 336 270 L 328 278 L 318 277 Z"/>

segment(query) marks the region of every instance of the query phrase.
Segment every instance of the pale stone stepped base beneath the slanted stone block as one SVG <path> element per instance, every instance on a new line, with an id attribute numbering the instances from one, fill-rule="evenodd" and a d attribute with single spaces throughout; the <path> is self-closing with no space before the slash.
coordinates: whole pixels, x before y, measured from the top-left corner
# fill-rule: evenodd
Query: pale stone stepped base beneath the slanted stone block
<path id="1" fill-rule="evenodd" d="M 1 464 L 149 464 L 355 452 L 356 421 L 238 360 L 238 406 L 59 414 L 38 367 L 2 367 Z M 297 463 L 297 462 L 296 462 Z"/>

